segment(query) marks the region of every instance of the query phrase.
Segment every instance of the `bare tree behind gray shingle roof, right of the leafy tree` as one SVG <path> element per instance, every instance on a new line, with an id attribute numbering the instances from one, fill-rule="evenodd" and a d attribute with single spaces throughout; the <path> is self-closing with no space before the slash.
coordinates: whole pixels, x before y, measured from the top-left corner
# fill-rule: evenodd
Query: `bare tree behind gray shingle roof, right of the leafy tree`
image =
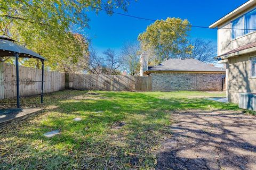
<path id="1" fill-rule="evenodd" d="M 194 58 L 201 62 L 212 63 L 217 55 L 217 47 L 210 40 L 200 38 L 193 39 L 191 45 L 194 47 L 188 58 Z"/>

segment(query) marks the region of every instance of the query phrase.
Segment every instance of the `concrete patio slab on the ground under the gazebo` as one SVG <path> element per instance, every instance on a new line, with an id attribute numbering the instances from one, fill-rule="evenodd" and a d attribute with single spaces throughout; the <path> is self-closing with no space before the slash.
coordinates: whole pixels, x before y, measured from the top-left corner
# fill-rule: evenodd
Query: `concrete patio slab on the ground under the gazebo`
<path id="1" fill-rule="evenodd" d="M 38 114 L 41 112 L 42 108 L 32 108 L 32 109 L 0 109 L 0 128 L 3 128 L 8 123 L 24 120 L 29 116 Z"/>

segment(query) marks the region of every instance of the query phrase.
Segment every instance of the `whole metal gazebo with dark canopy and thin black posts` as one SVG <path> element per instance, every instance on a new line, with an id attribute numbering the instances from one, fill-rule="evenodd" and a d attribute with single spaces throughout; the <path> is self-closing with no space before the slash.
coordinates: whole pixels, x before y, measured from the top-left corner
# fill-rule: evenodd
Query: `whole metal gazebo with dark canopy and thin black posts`
<path id="1" fill-rule="evenodd" d="M 14 43 L 15 40 L 0 36 L 0 57 L 15 57 L 16 65 L 16 81 L 17 81 L 17 107 L 20 107 L 20 92 L 19 92 L 19 58 L 37 58 L 42 62 L 42 86 L 41 86 L 41 103 L 43 103 L 44 90 L 44 61 L 45 58 L 41 55 Z M 22 80 L 21 80 L 22 81 Z"/>

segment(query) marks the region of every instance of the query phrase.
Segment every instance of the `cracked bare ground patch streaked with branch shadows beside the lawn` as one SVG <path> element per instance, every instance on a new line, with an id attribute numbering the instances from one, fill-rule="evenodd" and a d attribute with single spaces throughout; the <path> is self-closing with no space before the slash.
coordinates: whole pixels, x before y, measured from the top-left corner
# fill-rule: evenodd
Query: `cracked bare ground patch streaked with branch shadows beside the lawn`
<path id="1" fill-rule="evenodd" d="M 256 169 L 256 117 L 234 111 L 173 114 L 157 169 Z"/>

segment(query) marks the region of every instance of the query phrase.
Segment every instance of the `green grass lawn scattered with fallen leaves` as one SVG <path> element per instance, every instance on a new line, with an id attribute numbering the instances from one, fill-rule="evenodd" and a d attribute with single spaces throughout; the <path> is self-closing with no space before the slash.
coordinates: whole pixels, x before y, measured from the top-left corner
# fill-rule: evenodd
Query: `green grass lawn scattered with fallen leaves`
<path id="1" fill-rule="evenodd" d="M 44 113 L 0 130 L 0 169 L 152 169 L 161 142 L 171 138 L 172 112 L 237 110 L 205 100 L 221 92 L 106 92 L 65 90 L 21 98 Z M 15 107 L 15 99 L 0 100 Z M 102 112 L 101 112 L 102 111 Z M 74 122 L 76 117 L 82 121 Z M 119 124 L 124 126 L 117 128 Z M 44 133 L 60 130 L 46 138 Z"/>

